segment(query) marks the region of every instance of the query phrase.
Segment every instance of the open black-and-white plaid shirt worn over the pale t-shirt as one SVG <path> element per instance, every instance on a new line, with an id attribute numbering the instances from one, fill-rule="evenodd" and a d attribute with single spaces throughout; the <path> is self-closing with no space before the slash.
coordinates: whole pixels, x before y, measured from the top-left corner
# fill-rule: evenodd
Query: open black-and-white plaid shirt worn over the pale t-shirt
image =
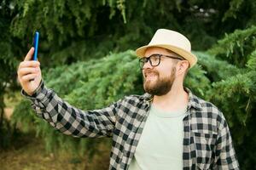
<path id="1" fill-rule="evenodd" d="M 183 118 L 183 169 L 239 169 L 224 115 L 189 89 Z M 26 95 L 24 91 L 22 94 Z M 112 137 L 109 169 L 128 169 L 148 117 L 152 96 L 131 95 L 101 110 L 81 111 L 41 83 L 27 98 L 32 108 L 61 133 L 74 137 Z"/>

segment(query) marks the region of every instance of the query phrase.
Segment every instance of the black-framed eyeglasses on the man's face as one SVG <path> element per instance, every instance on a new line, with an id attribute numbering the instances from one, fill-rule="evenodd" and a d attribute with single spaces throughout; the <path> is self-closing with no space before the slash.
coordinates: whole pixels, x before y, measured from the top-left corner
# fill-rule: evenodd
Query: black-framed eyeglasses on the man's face
<path id="1" fill-rule="evenodd" d="M 160 65 L 160 60 L 161 57 L 165 56 L 171 59 L 179 59 L 179 60 L 184 60 L 181 57 L 175 57 L 172 55 L 164 55 L 164 54 L 152 54 L 149 57 L 143 57 L 141 59 L 139 59 L 139 63 L 140 63 L 140 68 L 143 69 L 143 66 L 149 61 L 151 66 L 158 66 Z"/>

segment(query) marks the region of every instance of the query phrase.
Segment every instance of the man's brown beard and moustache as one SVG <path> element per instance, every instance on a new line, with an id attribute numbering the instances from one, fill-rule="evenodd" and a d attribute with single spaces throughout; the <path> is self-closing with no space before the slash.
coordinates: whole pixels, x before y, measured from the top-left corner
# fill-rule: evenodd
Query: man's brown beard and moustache
<path id="1" fill-rule="evenodd" d="M 171 90 L 172 84 L 175 80 L 175 72 L 176 69 L 175 67 L 173 67 L 172 73 L 170 74 L 169 77 L 160 77 L 159 72 L 157 71 L 145 71 L 145 75 L 147 75 L 148 73 L 153 73 L 154 76 L 157 77 L 157 79 L 153 81 L 147 81 L 147 78 L 144 78 L 143 87 L 145 92 L 157 96 L 167 94 Z"/>

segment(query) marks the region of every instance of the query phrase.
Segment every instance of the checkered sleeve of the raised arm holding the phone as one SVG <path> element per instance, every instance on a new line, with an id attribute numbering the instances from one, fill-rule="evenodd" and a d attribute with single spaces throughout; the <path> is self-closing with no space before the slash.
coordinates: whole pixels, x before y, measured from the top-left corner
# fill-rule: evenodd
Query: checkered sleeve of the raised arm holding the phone
<path id="1" fill-rule="evenodd" d="M 61 133 L 74 137 L 112 136 L 115 114 L 119 102 L 107 108 L 94 111 L 81 111 L 69 105 L 41 82 L 32 96 L 23 90 L 21 94 L 32 100 L 32 109 Z"/>

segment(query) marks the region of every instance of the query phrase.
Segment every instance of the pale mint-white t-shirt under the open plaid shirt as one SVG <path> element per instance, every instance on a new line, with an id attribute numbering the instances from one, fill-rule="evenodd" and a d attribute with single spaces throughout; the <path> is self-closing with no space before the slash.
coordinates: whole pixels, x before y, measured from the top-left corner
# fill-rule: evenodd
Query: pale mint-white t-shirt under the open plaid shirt
<path id="1" fill-rule="evenodd" d="M 129 170 L 183 169 L 183 117 L 181 111 L 160 111 L 151 105 L 148 119 Z"/>

